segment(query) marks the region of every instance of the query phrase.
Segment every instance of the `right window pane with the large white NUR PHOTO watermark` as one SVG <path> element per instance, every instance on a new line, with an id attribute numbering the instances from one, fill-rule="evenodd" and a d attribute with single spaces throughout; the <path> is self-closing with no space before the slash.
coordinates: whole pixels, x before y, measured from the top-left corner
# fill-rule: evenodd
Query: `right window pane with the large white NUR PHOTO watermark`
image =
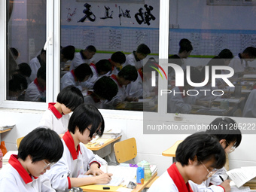
<path id="1" fill-rule="evenodd" d="M 255 7 L 219 2 L 170 1 L 169 113 L 256 116 Z"/>

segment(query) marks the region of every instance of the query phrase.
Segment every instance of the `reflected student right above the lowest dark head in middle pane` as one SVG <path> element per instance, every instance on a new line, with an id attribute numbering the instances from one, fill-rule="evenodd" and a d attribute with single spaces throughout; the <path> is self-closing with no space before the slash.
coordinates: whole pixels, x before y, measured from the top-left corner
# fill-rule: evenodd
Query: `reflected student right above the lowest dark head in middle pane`
<path id="1" fill-rule="evenodd" d="M 110 75 L 111 62 L 108 59 L 101 59 L 96 64 L 90 63 L 90 69 L 92 69 L 93 76 L 88 81 L 84 82 L 85 87 L 93 89 L 93 84 L 104 75 Z"/>

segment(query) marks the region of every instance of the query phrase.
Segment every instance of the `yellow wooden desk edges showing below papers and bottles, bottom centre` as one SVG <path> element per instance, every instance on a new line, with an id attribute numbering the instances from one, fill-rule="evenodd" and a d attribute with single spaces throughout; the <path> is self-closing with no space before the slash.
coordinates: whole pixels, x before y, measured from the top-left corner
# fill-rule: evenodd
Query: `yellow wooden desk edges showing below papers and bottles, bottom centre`
<path id="1" fill-rule="evenodd" d="M 137 184 L 136 188 L 134 190 L 132 190 L 132 192 L 142 191 L 149 182 L 154 180 L 154 178 L 156 176 L 157 176 L 157 172 L 154 175 L 152 175 L 151 179 L 149 179 L 148 181 L 145 181 L 144 184 Z M 103 190 L 103 187 L 110 187 L 110 189 Z M 87 192 L 106 192 L 106 191 L 114 192 L 117 189 L 119 189 L 120 187 L 122 187 L 122 186 L 121 185 L 120 186 L 107 186 L 107 185 L 99 185 L 99 184 L 89 184 L 86 186 L 82 186 L 81 188 L 83 189 L 83 191 L 87 191 Z"/>

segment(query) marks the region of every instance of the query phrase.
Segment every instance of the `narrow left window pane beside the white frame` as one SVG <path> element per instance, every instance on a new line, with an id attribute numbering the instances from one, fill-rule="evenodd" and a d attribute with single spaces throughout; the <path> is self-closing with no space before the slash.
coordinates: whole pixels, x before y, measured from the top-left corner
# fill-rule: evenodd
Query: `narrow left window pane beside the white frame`
<path id="1" fill-rule="evenodd" d="M 10 0 L 7 17 L 7 100 L 45 102 L 46 0 Z"/>

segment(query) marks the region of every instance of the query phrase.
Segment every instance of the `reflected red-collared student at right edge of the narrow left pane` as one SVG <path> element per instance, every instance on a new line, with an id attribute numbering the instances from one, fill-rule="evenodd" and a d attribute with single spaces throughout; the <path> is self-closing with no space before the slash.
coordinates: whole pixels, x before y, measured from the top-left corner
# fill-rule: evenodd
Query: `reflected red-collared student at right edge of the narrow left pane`
<path id="1" fill-rule="evenodd" d="M 45 66 L 38 69 L 37 78 L 29 84 L 25 93 L 25 101 L 46 101 L 46 69 Z"/>

